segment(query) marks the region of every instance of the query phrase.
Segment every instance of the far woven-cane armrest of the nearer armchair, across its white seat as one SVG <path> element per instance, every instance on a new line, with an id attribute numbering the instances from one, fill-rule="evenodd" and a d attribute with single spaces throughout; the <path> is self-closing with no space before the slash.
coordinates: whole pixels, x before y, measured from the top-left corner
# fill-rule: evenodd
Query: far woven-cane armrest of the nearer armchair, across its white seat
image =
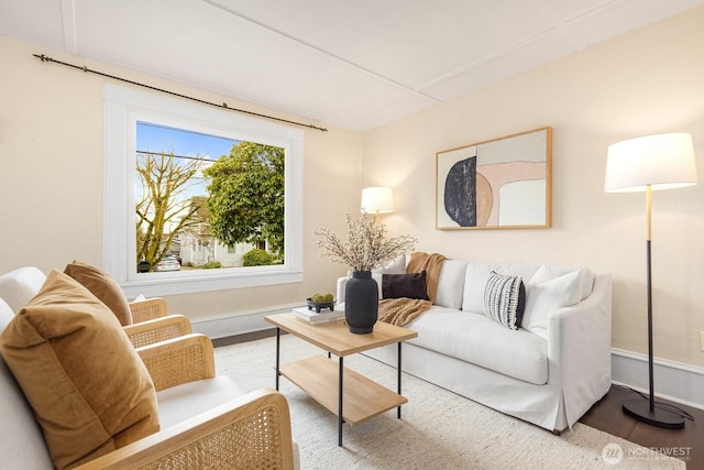
<path id="1" fill-rule="evenodd" d="M 191 334 L 136 349 L 156 391 L 216 376 L 212 341 Z"/>

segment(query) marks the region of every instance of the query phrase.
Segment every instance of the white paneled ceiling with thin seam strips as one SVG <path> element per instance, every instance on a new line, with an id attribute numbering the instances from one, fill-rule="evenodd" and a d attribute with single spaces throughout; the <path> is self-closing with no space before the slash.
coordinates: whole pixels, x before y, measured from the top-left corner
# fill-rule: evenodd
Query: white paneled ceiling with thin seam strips
<path id="1" fill-rule="evenodd" d="M 702 3 L 2 0 L 0 35 L 365 131 Z"/>

